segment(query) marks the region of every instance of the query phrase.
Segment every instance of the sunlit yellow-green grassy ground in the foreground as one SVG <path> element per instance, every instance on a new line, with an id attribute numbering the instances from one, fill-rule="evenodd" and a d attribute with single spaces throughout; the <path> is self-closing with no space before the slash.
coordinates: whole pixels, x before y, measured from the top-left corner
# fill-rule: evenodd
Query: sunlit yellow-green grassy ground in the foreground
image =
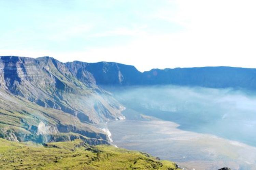
<path id="1" fill-rule="evenodd" d="M 45 146 L 0 139 L 0 169 L 178 169 L 137 151 L 108 145 L 89 146 L 80 139 Z"/>

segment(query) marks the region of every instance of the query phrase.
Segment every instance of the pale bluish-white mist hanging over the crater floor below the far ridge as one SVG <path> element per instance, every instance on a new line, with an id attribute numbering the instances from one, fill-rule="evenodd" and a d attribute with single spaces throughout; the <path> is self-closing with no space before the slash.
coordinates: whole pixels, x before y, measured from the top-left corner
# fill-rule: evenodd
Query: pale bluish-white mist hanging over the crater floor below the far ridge
<path id="1" fill-rule="evenodd" d="M 256 95 L 250 91 L 168 85 L 112 92 L 125 107 L 178 123 L 181 130 L 256 146 Z"/>

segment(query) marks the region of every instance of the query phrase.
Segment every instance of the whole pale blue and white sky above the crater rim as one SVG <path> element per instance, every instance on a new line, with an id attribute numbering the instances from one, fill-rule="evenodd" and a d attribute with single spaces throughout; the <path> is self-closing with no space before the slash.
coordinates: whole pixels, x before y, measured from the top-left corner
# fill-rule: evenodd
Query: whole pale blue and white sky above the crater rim
<path id="1" fill-rule="evenodd" d="M 256 68 L 254 0 L 0 0 L 0 55 Z"/>

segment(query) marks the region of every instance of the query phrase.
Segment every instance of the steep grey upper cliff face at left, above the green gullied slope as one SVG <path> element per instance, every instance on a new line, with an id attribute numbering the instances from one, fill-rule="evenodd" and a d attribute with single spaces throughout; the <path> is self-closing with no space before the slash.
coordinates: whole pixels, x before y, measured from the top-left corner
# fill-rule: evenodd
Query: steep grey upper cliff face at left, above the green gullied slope
<path id="1" fill-rule="evenodd" d="M 78 72 L 76 78 L 65 64 L 50 57 L 0 57 L 0 68 L 3 89 L 40 106 L 61 110 L 89 123 L 120 116 L 122 106 L 95 84 L 89 72 Z"/>

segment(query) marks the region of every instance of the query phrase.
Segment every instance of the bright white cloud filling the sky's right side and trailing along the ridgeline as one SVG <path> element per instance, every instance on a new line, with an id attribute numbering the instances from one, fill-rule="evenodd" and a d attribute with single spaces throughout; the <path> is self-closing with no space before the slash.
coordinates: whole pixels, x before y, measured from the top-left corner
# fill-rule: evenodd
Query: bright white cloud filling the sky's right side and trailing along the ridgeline
<path id="1" fill-rule="evenodd" d="M 119 27 L 93 36 L 129 35 L 133 36 L 133 40 L 112 47 L 94 47 L 76 52 L 8 53 L 0 50 L 0 54 L 50 55 L 62 62 L 114 61 L 135 65 L 142 71 L 220 65 L 256 68 L 253 61 L 256 56 L 255 8 L 256 1 L 251 0 L 170 0 L 168 5 L 148 16 L 180 24 L 185 28 L 180 32 L 152 34 L 145 32 L 144 28 Z M 65 34 L 80 35 L 88 29 L 93 28 L 75 26 Z"/>

